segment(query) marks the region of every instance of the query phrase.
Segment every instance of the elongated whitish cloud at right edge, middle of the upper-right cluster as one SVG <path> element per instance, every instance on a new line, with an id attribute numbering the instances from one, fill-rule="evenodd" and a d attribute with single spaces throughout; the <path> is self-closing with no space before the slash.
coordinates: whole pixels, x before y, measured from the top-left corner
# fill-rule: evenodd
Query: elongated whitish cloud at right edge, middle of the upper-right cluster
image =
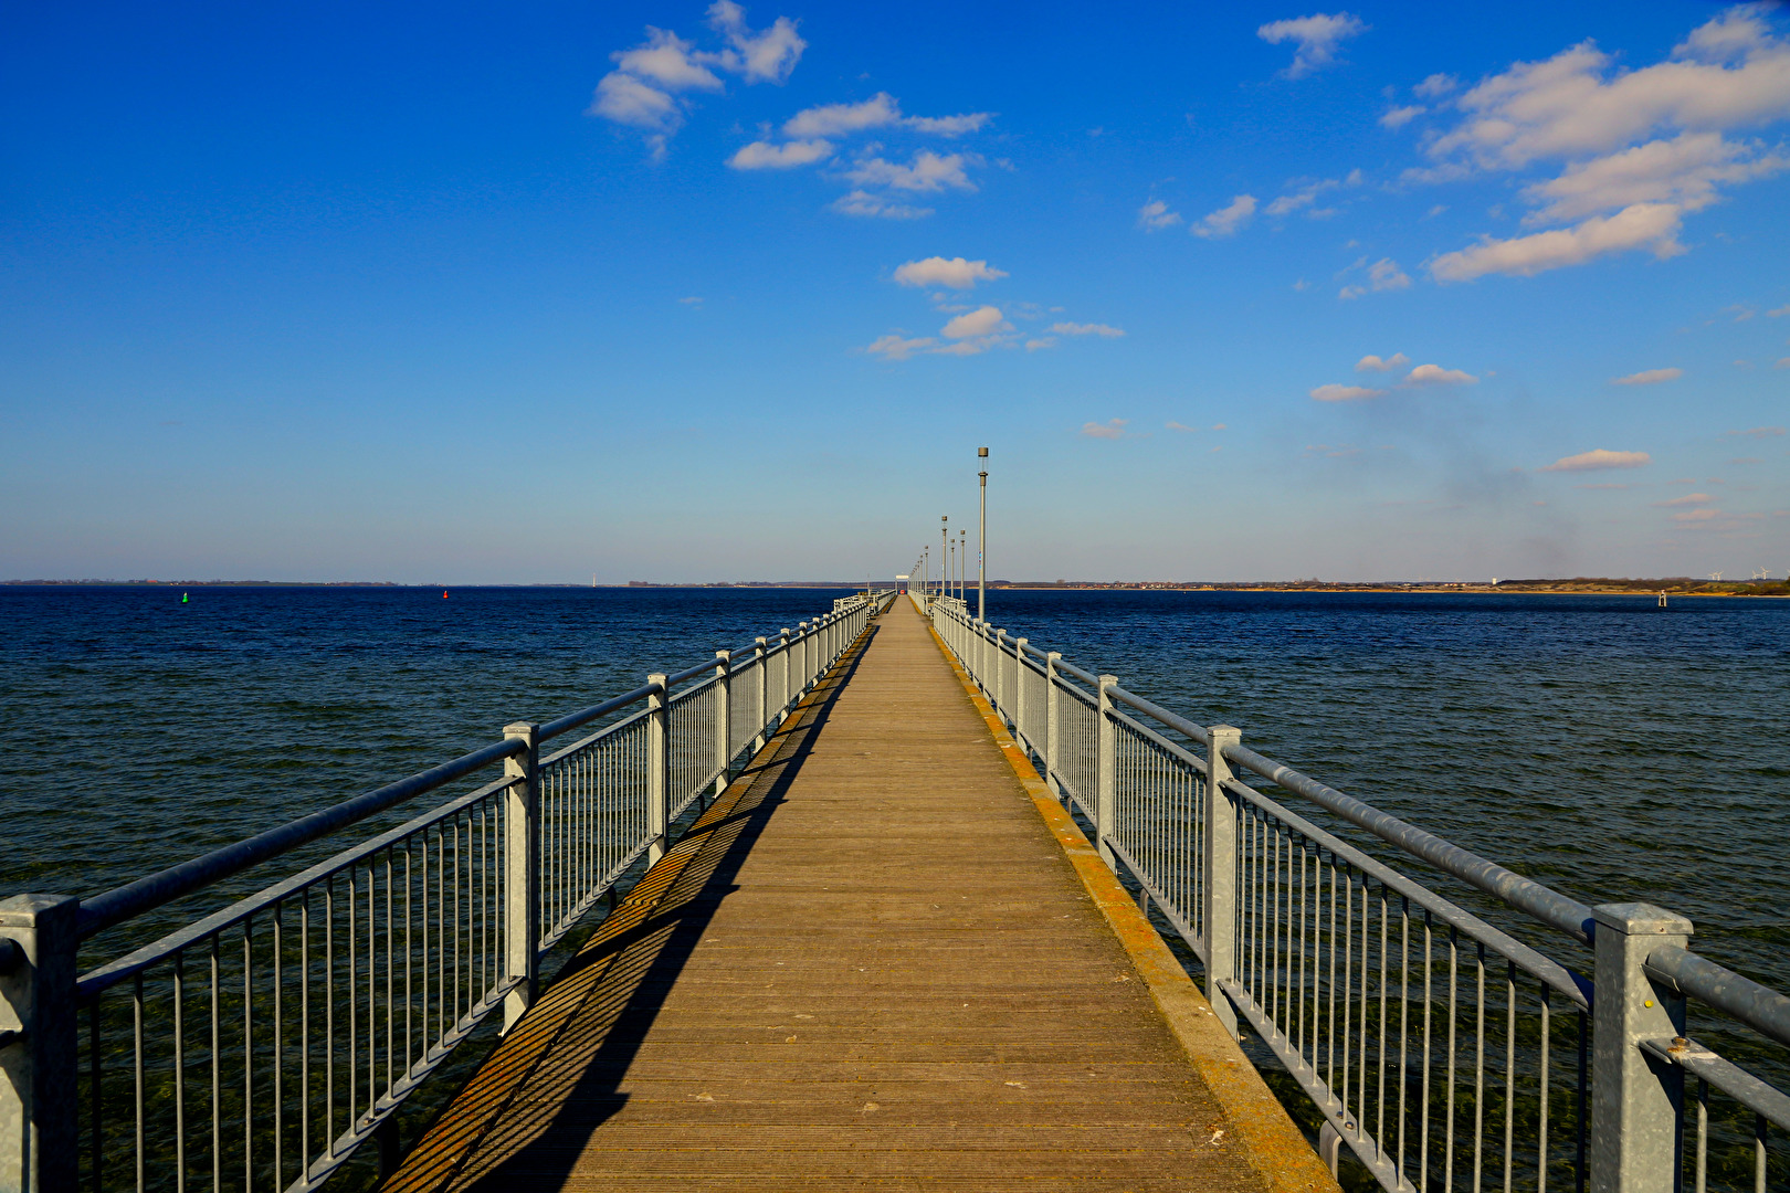
<path id="1" fill-rule="evenodd" d="M 1749 182 L 1790 168 L 1790 157 L 1754 157 L 1756 152 L 1720 132 L 1681 132 L 1670 141 L 1573 163 L 1559 177 L 1523 190 L 1530 202 L 1547 204 L 1523 216 L 1523 224 L 1575 220 L 1638 202 L 1672 202 L 1683 211 L 1699 211 L 1715 202 L 1717 182 Z"/>

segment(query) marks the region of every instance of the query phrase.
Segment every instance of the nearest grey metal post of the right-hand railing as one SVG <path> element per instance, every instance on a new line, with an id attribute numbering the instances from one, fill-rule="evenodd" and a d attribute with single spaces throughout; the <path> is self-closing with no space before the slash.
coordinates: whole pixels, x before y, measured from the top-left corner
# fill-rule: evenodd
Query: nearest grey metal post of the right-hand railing
<path id="1" fill-rule="evenodd" d="M 1684 948 L 1692 923 L 1652 903 L 1604 903 L 1591 919 L 1591 1193 L 1672 1193 L 1684 1070 L 1641 1041 L 1684 1034 L 1684 996 L 1641 966 L 1656 948 Z"/>

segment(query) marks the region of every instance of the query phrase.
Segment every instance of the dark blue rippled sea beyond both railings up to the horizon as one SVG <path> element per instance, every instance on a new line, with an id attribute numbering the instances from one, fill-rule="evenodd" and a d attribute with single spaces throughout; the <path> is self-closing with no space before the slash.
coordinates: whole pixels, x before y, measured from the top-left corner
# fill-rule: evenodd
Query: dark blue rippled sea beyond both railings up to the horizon
<path id="1" fill-rule="evenodd" d="M 0 894 L 98 893 L 843 592 L 0 587 Z M 988 613 L 1584 901 L 1683 912 L 1790 987 L 1790 601 L 997 590 Z"/>

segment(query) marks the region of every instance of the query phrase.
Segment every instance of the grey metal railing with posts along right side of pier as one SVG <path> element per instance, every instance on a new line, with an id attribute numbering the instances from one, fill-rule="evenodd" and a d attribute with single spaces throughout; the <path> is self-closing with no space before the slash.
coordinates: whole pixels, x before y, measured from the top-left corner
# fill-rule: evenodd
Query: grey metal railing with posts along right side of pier
<path id="1" fill-rule="evenodd" d="M 1233 1036 L 1246 1023 L 1316 1107 L 1332 1170 L 1346 1143 L 1394 1193 L 1785 1180 L 1769 1130 L 1790 1130 L 1790 1098 L 1692 1039 L 1688 1020 L 1695 1007 L 1709 1039 L 1783 1071 L 1790 998 L 1690 952 L 1688 919 L 1586 907 L 1248 749 L 1237 728 L 977 622 L 963 601 L 915 603 L 1106 864 L 1199 959 L 1214 1012 Z M 1337 835 L 1355 830 L 1464 884 L 1513 930 L 1539 928 L 1543 948 Z"/>

